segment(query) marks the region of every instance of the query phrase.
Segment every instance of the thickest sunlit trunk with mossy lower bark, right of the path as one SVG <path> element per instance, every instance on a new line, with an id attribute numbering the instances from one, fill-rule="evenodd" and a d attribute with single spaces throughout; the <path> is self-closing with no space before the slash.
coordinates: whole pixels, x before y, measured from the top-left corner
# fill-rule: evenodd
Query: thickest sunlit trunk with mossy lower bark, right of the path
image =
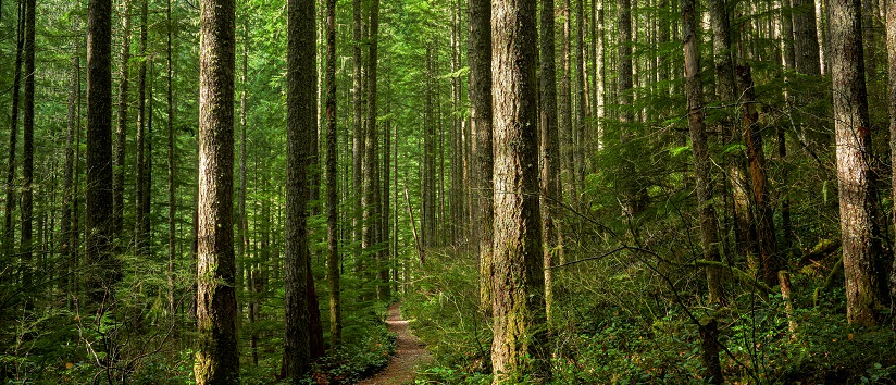
<path id="1" fill-rule="evenodd" d="M 495 383 L 547 376 L 538 207 L 536 3 L 491 4 L 495 223 L 491 365 Z"/>

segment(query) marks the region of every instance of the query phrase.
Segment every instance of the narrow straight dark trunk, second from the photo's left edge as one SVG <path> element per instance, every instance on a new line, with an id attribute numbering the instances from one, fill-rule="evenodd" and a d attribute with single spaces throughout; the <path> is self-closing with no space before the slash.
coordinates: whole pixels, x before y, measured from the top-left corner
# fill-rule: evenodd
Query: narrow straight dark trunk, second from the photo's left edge
<path id="1" fill-rule="evenodd" d="M 35 50 L 35 0 L 25 0 L 25 95 L 22 119 L 22 240 L 18 253 L 22 256 L 23 287 L 32 286 L 33 266 L 33 221 L 34 221 L 34 50 Z M 41 240 L 38 237 L 38 240 Z"/>

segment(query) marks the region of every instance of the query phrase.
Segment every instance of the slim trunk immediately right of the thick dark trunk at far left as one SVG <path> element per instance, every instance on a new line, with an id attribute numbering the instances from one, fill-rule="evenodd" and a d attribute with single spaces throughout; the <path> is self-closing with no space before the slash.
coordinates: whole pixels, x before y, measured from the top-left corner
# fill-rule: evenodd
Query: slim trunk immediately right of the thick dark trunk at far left
<path id="1" fill-rule="evenodd" d="M 124 174 L 125 174 L 125 152 L 127 150 L 127 109 L 128 109 L 128 80 L 130 77 L 130 2 L 133 0 L 122 0 L 122 47 L 119 65 L 119 120 L 115 129 L 115 167 L 113 182 L 112 201 L 112 232 L 114 236 L 115 252 L 121 252 L 127 245 L 124 241 Z M 89 100 L 88 100 L 89 102 Z"/>

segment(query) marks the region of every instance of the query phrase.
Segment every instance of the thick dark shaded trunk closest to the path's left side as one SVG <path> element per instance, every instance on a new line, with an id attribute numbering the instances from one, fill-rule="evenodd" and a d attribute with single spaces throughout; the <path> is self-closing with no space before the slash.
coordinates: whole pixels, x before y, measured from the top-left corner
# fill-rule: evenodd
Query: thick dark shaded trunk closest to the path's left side
<path id="1" fill-rule="evenodd" d="M 308 293 L 308 166 L 314 134 L 314 0 L 289 0 L 287 11 L 285 330 L 281 377 L 297 381 L 311 363 L 311 303 Z"/>

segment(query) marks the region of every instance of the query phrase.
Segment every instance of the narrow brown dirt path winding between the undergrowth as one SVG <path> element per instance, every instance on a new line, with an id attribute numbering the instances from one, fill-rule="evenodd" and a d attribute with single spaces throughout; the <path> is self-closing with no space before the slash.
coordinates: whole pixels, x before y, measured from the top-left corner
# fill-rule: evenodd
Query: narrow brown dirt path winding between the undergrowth
<path id="1" fill-rule="evenodd" d="M 395 343 L 395 356 L 382 372 L 362 380 L 359 385 L 402 385 L 412 383 L 418 364 L 430 359 L 430 352 L 423 348 L 420 339 L 408 328 L 408 321 L 401 318 L 398 302 L 389 306 L 386 325 L 390 333 L 398 335 Z"/>

